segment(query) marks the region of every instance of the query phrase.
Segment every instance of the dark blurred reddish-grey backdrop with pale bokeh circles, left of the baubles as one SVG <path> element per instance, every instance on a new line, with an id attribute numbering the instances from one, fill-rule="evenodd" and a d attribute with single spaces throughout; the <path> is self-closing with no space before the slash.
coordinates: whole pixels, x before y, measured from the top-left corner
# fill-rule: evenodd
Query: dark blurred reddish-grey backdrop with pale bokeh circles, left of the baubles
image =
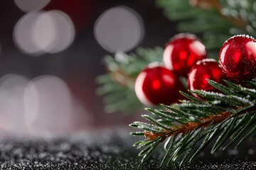
<path id="1" fill-rule="evenodd" d="M 0 1 L 0 132 L 43 135 L 132 123 L 95 94 L 102 57 L 164 47 L 175 33 L 154 1 Z"/>

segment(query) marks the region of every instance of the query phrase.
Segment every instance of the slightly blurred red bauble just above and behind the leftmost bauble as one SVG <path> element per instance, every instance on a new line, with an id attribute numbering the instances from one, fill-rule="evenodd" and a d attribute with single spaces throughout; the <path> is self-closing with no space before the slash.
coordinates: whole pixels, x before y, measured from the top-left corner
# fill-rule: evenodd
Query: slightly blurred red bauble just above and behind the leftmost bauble
<path id="1" fill-rule="evenodd" d="M 206 47 L 196 35 L 180 33 L 166 45 L 164 64 L 178 76 L 187 76 L 193 64 L 205 59 L 206 55 Z"/>

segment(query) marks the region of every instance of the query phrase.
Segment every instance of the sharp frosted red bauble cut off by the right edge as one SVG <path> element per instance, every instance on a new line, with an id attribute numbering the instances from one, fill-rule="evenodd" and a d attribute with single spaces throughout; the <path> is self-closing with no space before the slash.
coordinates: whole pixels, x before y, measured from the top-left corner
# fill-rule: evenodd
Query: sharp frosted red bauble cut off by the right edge
<path id="1" fill-rule="evenodd" d="M 256 77 L 256 40 L 235 35 L 220 49 L 220 65 L 230 79 L 241 81 Z"/>

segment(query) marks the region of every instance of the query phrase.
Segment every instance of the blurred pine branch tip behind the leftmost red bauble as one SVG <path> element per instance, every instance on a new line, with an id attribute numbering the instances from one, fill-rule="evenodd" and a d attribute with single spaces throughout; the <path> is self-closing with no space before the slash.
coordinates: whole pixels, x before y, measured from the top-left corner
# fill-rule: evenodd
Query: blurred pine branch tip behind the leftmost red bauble
<path id="1" fill-rule="evenodd" d="M 97 77 L 100 87 L 97 94 L 104 96 L 105 111 L 114 113 L 134 113 L 143 108 L 134 91 L 134 82 L 139 72 L 151 62 L 162 62 L 163 49 L 138 48 L 136 53 L 130 55 L 122 52 L 114 57 L 104 57 L 108 73 Z"/>

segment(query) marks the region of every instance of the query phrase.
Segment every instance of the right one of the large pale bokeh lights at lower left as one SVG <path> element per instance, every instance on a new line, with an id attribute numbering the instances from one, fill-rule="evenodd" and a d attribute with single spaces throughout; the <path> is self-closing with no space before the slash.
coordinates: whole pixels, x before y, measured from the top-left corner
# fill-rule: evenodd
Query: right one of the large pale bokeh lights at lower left
<path id="1" fill-rule="evenodd" d="M 63 80 L 41 76 L 29 82 L 24 93 L 26 121 L 31 134 L 69 132 L 73 125 L 73 102 Z"/>

